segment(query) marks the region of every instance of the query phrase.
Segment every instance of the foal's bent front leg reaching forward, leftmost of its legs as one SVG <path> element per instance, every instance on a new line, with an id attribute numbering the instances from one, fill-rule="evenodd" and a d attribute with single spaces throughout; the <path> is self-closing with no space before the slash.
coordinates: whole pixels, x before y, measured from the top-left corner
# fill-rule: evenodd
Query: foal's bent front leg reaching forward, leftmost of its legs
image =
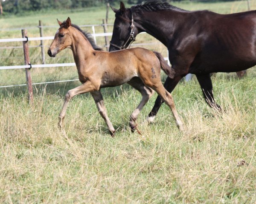
<path id="1" fill-rule="evenodd" d="M 60 127 L 60 129 L 63 126 L 62 124 L 63 124 L 63 121 L 64 121 L 64 117 L 66 115 L 68 102 L 74 96 L 76 96 L 78 94 L 85 94 L 85 93 L 94 91 L 94 89 L 95 89 L 95 86 L 90 81 L 87 81 L 87 82 L 84 82 L 82 85 L 80 85 L 76 88 L 73 88 L 73 89 L 71 89 L 67 92 L 67 94 L 65 95 L 65 101 L 64 101 L 63 107 L 61 109 L 61 113 L 59 115 L 58 126 Z"/>

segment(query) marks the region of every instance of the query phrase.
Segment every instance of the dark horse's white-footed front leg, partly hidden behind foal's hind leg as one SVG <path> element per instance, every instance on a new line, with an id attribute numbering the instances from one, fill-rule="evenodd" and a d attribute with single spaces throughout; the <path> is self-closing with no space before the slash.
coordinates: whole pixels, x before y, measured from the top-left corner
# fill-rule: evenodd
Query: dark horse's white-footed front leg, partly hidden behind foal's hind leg
<path id="1" fill-rule="evenodd" d="M 174 79 L 171 79 L 167 77 L 166 81 L 164 82 L 164 88 L 169 92 L 172 93 L 173 89 L 177 85 L 177 83 L 180 81 L 182 77 L 181 76 L 175 76 Z M 153 122 L 154 118 L 160 108 L 160 106 L 163 104 L 163 99 L 160 96 L 157 96 L 157 99 L 155 101 L 154 107 L 152 108 L 152 111 L 148 114 L 148 122 Z"/>

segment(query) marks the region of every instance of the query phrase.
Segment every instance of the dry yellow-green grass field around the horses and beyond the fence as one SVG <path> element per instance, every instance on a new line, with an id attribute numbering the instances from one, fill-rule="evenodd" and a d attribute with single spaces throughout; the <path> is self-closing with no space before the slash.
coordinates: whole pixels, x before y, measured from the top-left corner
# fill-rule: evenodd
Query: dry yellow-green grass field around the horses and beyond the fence
<path id="1" fill-rule="evenodd" d="M 246 1 L 175 6 L 220 13 L 247 9 Z M 256 9 L 256 1 L 251 1 L 251 8 Z M 35 26 L 42 20 L 52 26 L 57 25 L 57 17 L 65 20 L 67 16 L 78 25 L 98 24 L 105 17 L 105 8 L 1 18 L 0 25 Z M 44 35 L 52 36 L 56 29 L 44 29 Z M 28 33 L 39 36 L 38 29 Z M 20 36 L 20 31 L 0 31 L 0 38 Z M 104 39 L 97 42 L 103 45 Z M 157 40 L 141 34 L 138 42 Z M 0 47 L 16 45 L 20 43 Z M 147 48 L 166 54 L 163 45 Z M 29 51 L 31 62 L 40 64 L 40 48 Z M 73 57 L 65 50 L 46 60 L 73 62 Z M 22 64 L 22 50 L 0 49 L 0 66 Z M 25 83 L 23 70 L 2 70 L 0 77 L 0 86 Z M 109 136 L 90 94 L 70 102 L 65 131 L 58 130 L 64 95 L 79 82 L 34 87 L 33 108 L 27 103 L 26 87 L 2 88 L 0 203 L 256 203 L 255 77 L 256 68 L 240 80 L 234 73 L 212 77 L 215 99 L 223 113 L 206 105 L 195 79 L 180 82 L 172 95 L 185 124 L 183 132 L 177 129 L 166 105 L 160 108 L 154 124 L 145 122 L 154 95 L 138 118 L 142 135 L 131 133 L 129 115 L 139 104 L 140 94 L 128 85 L 102 89 L 109 118 L 117 129 L 115 138 Z M 33 82 L 76 78 L 75 67 L 32 70 Z"/>

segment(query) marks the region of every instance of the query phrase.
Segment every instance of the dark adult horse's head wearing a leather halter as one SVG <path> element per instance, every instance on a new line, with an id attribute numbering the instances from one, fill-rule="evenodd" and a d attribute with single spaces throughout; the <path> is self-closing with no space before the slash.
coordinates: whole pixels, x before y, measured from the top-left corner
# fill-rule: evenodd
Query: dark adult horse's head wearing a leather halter
<path id="1" fill-rule="evenodd" d="M 111 8 L 116 13 L 116 19 L 109 51 L 125 49 L 135 40 L 135 36 L 139 33 L 139 28 L 133 22 L 131 9 L 126 9 L 124 3 L 120 3 L 120 9 L 112 6 Z"/>

